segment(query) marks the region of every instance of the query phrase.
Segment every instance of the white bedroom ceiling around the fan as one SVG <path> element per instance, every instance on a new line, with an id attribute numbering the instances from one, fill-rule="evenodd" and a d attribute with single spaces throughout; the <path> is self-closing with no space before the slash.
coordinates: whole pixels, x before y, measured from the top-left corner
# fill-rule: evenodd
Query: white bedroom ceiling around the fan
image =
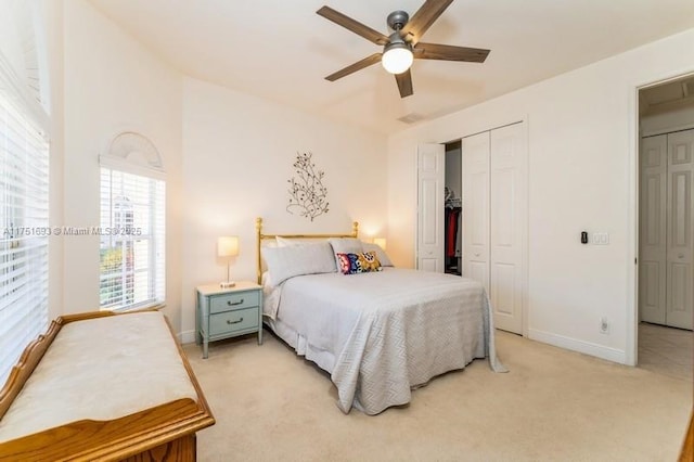
<path id="1" fill-rule="evenodd" d="M 378 64 L 324 77 L 380 48 L 319 16 L 323 4 L 387 34 L 423 0 L 91 0 L 182 73 L 393 133 L 694 27 L 692 0 L 455 0 L 424 41 L 491 50 L 484 64 L 415 61 L 400 99 Z M 569 91 L 567 89 L 567 91 Z"/>

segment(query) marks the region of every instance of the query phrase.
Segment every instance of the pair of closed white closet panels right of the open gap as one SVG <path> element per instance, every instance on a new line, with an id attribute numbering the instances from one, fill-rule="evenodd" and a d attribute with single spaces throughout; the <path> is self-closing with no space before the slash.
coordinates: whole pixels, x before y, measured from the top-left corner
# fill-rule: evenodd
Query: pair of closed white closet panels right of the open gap
<path id="1" fill-rule="evenodd" d="M 523 333 L 527 261 L 525 124 L 461 141 L 463 275 L 487 290 L 498 329 Z"/>

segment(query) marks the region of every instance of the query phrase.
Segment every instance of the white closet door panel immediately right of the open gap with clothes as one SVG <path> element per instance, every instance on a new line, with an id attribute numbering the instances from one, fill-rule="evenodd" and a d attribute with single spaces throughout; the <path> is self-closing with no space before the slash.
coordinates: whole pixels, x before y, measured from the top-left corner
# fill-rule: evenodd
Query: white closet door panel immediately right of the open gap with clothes
<path id="1" fill-rule="evenodd" d="M 489 131 L 461 140 L 463 275 L 489 294 Z"/>

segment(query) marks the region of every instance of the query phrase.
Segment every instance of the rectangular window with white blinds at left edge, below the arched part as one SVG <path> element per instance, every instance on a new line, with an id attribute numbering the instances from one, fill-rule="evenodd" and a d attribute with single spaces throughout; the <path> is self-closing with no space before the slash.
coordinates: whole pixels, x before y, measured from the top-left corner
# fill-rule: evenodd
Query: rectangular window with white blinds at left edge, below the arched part
<path id="1" fill-rule="evenodd" d="M 0 78 L 0 387 L 48 325 L 50 234 L 48 141 L 2 84 Z"/>

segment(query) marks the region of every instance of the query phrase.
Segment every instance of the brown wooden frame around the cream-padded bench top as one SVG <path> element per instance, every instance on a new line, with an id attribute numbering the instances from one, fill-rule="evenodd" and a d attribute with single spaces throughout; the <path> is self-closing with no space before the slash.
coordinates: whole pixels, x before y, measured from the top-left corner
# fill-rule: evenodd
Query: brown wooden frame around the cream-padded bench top
<path id="1" fill-rule="evenodd" d="M 13 369 L 0 394 L 0 419 L 64 324 L 108 316 L 128 313 L 94 311 L 60 317 L 53 321 L 48 333 L 25 349 Z M 0 461 L 194 461 L 195 432 L 214 425 L 215 418 L 183 349 L 176 342 L 171 324 L 166 317 L 164 319 L 195 389 L 197 402 L 183 398 L 120 419 L 82 420 L 49 428 L 0 444 Z"/>

